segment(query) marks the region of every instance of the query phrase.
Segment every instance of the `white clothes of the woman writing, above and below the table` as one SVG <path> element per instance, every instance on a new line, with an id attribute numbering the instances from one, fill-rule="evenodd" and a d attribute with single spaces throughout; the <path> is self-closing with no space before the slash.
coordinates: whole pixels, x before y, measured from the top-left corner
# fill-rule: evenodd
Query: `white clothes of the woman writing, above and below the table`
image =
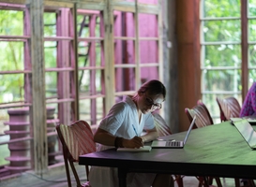
<path id="1" fill-rule="evenodd" d="M 135 130 L 133 129 L 136 129 Z M 125 99 L 113 106 L 109 114 L 99 123 L 98 128 L 111 133 L 114 137 L 141 136 L 143 129 L 150 130 L 155 127 L 154 118 L 151 113 L 142 114 L 139 122 L 138 112 L 135 103 L 127 96 Z M 109 146 L 98 146 L 98 151 L 113 148 Z M 128 173 L 128 187 L 150 187 L 156 174 L 150 173 Z M 111 167 L 92 166 L 89 174 L 92 187 L 115 187 L 118 186 L 117 169 Z"/>

